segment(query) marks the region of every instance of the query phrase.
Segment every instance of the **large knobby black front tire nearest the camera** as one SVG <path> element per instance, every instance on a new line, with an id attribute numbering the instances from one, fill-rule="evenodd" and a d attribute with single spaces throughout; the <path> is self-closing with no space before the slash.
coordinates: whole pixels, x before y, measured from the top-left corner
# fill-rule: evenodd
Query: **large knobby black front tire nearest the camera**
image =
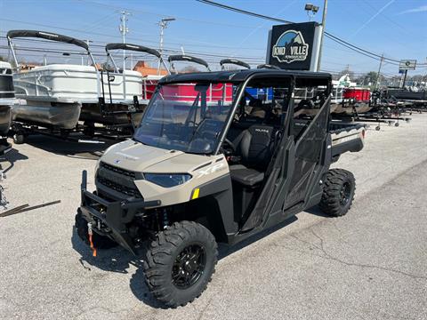
<path id="1" fill-rule="evenodd" d="M 182 254 L 188 248 L 194 247 L 203 248 L 204 267 L 194 284 L 180 287 L 177 284 L 178 280 L 173 280 L 176 279 L 177 270 L 181 270 L 177 266 L 179 264 L 177 261 L 182 261 L 180 259 Z M 201 256 L 200 254 L 198 259 Z M 149 291 L 169 308 L 184 306 L 205 291 L 214 274 L 217 260 L 217 244 L 207 228 L 193 221 L 174 222 L 172 226 L 158 232 L 156 238 L 149 244 L 143 264 Z M 180 272 L 184 271 L 178 273 Z"/>

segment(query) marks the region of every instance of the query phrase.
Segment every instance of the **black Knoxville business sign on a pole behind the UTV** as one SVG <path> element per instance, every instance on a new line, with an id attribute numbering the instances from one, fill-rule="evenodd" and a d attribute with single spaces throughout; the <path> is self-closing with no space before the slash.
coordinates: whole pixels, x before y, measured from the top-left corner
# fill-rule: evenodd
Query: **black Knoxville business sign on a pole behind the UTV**
<path id="1" fill-rule="evenodd" d="M 317 22 L 273 26 L 266 63 L 283 69 L 313 69 L 318 60 L 319 28 Z"/>

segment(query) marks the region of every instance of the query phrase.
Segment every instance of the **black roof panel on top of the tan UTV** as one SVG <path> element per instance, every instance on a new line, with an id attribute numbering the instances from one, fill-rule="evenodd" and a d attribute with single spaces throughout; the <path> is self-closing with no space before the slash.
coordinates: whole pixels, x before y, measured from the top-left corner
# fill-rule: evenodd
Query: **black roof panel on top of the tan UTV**
<path id="1" fill-rule="evenodd" d="M 276 69 L 247 69 L 214 72 L 196 72 L 188 74 L 170 75 L 163 77 L 159 83 L 184 83 L 184 82 L 227 82 L 241 83 L 250 77 L 294 77 L 298 79 L 318 79 L 331 81 L 332 76 L 326 72 L 276 70 Z"/>

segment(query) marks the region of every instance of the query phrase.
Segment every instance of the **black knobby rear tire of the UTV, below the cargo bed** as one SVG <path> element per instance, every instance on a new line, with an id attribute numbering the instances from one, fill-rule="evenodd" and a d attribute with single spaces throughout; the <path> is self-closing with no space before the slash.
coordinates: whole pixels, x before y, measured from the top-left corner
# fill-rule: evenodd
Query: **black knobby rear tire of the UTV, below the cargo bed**
<path id="1" fill-rule="evenodd" d="M 356 191 L 353 173 L 343 169 L 331 169 L 326 173 L 320 209 L 334 217 L 345 215 L 351 207 Z"/>

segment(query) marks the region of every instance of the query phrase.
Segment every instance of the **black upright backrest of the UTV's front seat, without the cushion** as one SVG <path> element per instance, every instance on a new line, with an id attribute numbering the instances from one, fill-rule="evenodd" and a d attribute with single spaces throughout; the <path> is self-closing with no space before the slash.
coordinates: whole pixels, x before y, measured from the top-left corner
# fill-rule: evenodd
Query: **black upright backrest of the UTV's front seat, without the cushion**
<path id="1" fill-rule="evenodd" d="M 264 171 L 270 163 L 274 127 L 254 124 L 240 134 L 237 151 L 242 164 Z"/>

